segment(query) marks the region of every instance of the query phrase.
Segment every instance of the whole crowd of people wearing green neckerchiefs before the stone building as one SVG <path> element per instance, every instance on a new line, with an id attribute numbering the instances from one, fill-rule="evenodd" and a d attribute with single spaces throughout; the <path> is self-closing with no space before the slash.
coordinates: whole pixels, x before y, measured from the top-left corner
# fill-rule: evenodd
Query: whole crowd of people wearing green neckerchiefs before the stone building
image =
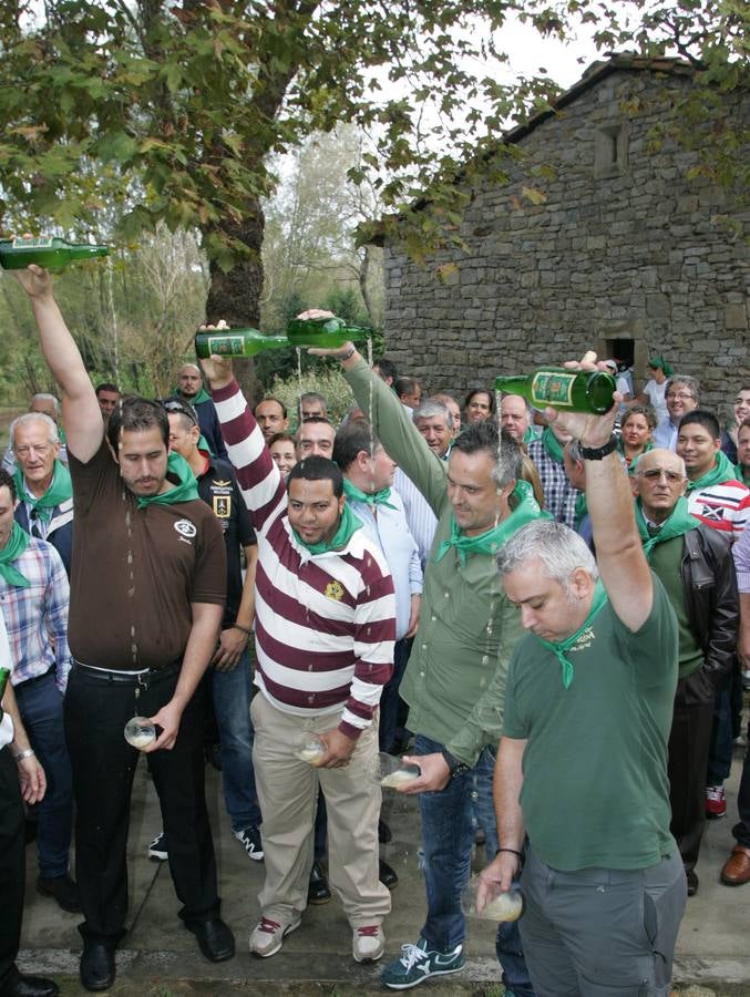
<path id="1" fill-rule="evenodd" d="M 148 855 L 207 959 L 235 953 L 213 737 L 232 831 L 264 866 L 256 956 L 331 893 L 353 959 L 383 956 L 387 752 L 418 767 L 402 791 L 427 900 L 387 988 L 463 968 L 479 826 L 477 905 L 518 882 L 525 898 L 497 927 L 506 993 L 667 995 L 750 679 L 750 387 L 723 426 L 662 357 L 640 393 L 602 361 L 617 394 L 599 417 L 484 388 L 461 404 L 346 343 L 311 351 L 351 388 L 340 425 L 318 392 L 250 407 L 220 357 L 144 399 L 94 387 L 49 275 L 18 279 L 61 402 L 31 400 L 0 470 L 0 997 L 56 993 L 16 966 L 24 802 L 38 891 L 82 915 L 82 986 L 115 979 L 133 716 L 156 729 Z M 750 882 L 750 760 L 738 806 L 732 886 Z"/>

